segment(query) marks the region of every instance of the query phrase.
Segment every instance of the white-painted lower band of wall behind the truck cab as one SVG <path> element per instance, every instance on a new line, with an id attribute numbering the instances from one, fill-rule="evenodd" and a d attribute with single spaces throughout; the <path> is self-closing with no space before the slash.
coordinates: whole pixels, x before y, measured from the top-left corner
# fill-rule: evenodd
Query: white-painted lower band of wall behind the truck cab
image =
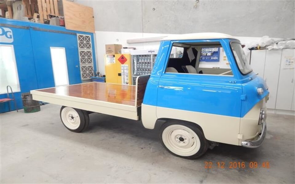
<path id="1" fill-rule="evenodd" d="M 109 31 L 96 31 L 96 59 L 98 66 L 98 71 L 101 74 L 105 74 L 104 71 L 104 54 L 106 44 L 122 44 L 122 47 L 135 47 L 136 49 L 158 49 L 160 42 L 150 42 L 150 43 L 140 43 L 140 44 L 127 44 L 128 39 L 135 38 L 148 38 L 148 37 L 158 37 L 158 36 L 169 36 L 173 34 L 157 34 L 157 33 L 128 33 L 128 32 L 109 32 Z M 242 44 L 246 44 L 252 41 L 259 41 L 260 37 L 240 37 L 237 39 L 241 41 Z"/>

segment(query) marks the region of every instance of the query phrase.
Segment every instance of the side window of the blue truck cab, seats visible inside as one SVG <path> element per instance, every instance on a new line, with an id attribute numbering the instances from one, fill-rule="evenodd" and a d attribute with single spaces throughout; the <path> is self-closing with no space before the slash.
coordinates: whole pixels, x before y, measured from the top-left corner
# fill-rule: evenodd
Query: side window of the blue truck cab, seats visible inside
<path id="1" fill-rule="evenodd" d="M 181 51 L 180 48 L 182 57 L 175 57 L 179 56 L 174 53 Z M 166 73 L 233 75 L 219 42 L 174 43 Z"/>

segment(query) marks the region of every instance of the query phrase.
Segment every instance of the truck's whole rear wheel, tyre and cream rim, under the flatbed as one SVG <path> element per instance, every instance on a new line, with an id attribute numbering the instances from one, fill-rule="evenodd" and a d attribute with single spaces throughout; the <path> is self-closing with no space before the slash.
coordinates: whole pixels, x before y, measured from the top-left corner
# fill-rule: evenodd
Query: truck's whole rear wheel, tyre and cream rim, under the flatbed
<path id="1" fill-rule="evenodd" d="M 61 121 L 72 132 L 83 132 L 89 125 L 89 115 L 86 111 L 72 107 L 61 107 Z"/>

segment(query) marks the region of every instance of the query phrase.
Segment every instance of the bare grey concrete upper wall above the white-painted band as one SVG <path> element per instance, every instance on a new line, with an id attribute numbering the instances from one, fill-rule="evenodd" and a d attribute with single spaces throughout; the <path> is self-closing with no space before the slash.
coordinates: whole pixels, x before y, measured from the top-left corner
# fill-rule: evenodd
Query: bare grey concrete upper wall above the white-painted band
<path id="1" fill-rule="evenodd" d="M 96 31 L 221 32 L 235 36 L 295 35 L 294 1 L 92 1 Z M 196 5 L 196 6 L 195 6 Z"/>

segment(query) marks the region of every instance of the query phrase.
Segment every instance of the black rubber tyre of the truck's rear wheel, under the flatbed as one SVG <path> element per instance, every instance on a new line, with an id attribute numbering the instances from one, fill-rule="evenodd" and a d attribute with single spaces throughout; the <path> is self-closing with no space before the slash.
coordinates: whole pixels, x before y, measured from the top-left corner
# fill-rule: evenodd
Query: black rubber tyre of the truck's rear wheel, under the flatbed
<path id="1" fill-rule="evenodd" d="M 78 124 L 77 127 L 75 127 L 75 129 L 73 129 L 73 128 L 69 128 L 69 127 L 67 126 L 67 123 L 63 121 L 63 118 L 62 118 L 62 116 L 64 116 L 64 115 L 63 115 L 63 113 L 64 113 L 64 112 L 63 112 L 63 109 L 65 109 L 65 108 L 71 108 L 71 107 L 62 106 L 62 107 L 61 107 L 61 110 L 60 110 L 60 118 L 61 118 L 61 122 L 63 123 L 63 125 L 65 126 L 65 128 L 67 128 L 67 129 L 68 129 L 69 131 L 71 131 L 71 132 L 76 132 L 76 133 L 78 133 L 78 132 L 83 132 L 83 131 L 88 127 L 88 125 L 89 125 L 89 116 L 88 116 L 88 114 L 86 113 L 86 111 L 81 110 L 81 109 L 71 108 L 71 109 L 73 109 L 74 111 L 77 112 L 77 115 L 78 115 L 79 118 L 80 118 L 80 123 Z M 65 117 L 64 117 L 64 118 L 65 118 Z"/>

